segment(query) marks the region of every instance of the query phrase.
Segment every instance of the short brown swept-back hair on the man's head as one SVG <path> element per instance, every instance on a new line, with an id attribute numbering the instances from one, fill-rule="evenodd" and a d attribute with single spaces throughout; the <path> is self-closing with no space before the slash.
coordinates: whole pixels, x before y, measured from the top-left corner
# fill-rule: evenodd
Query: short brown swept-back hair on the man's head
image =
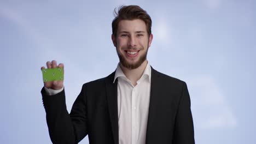
<path id="1" fill-rule="evenodd" d="M 118 23 L 121 20 L 134 20 L 140 19 L 146 23 L 148 36 L 151 34 L 152 20 L 147 11 L 143 10 L 138 5 L 121 5 L 118 11 L 114 9 L 115 18 L 112 21 L 112 34 L 117 37 Z"/>

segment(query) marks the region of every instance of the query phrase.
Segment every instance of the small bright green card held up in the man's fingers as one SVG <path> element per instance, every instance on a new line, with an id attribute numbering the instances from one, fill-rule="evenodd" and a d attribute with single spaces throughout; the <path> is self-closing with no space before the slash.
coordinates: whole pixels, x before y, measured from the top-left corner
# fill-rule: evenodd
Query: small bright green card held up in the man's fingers
<path id="1" fill-rule="evenodd" d="M 43 81 L 61 81 L 64 80 L 63 68 L 42 69 Z"/>

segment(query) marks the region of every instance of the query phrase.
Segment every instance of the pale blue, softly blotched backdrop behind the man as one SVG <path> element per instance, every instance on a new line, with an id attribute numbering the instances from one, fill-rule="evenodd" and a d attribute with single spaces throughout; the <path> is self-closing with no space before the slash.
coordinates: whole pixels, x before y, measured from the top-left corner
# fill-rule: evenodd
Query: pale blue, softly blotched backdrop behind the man
<path id="1" fill-rule="evenodd" d="M 148 61 L 187 82 L 196 143 L 255 143 L 256 2 L 229 0 L 1 0 L 0 143 L 51 143 L 40 93 L 47 61 L 65 64 L 68 111 L 83 83 L 115 70 L 121 4 L 152 17 Z"/>

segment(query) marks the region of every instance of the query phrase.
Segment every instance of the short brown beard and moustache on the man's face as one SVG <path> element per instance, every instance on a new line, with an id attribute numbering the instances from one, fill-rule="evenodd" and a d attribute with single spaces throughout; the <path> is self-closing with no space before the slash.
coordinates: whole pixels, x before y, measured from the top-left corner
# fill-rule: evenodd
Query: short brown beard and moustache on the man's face
<path id="1" fill-rule="evenodd" d="M 116 49 L 117 50 L 117 49 Z M 127 49 L 126 49 L 127 50 Z M 129 50 L 129 49 L 128 49 Z M 139 51 L 140 52 L 140 51 Z M 141 64 L 146 61 L 147 59 L 147 54 L 148 54 L 148 49 L 145 53 L 142 53 L 142 55 L 139 57 L 138 61 L 137 62 L 132 62 L 130 63 L 129 61 L 127 61 L 127 59 L 125 58 L 124 55 L 122 55 L 121 52 L 118 52 L 117 50 L 117 54 L 118 54 L 118 57 L 119 57 L 119 61 L 120 63 L 127 69 L 136 69 L 138 68 L 139 66 L 141 66 Z"/>

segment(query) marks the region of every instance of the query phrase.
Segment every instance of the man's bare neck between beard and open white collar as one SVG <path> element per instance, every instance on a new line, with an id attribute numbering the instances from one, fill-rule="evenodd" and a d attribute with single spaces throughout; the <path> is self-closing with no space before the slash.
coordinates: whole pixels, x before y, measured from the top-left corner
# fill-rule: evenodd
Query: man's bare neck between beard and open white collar
<path id="1" fill-rule="evenodd" d="M 144 70 L 146 69 L 147 64 L 148 64 L 148 61 L 146 60 L 136 69 L 127 69 L 120 63 L 120 68 L 123 70 L 127 79 L 129 79 L 132 82 L 132 84 L 135 86 L 135 85 L 137 85 L 136 82 L 139 79 L 141 79 L 141 76 L 142 76 Z"/>

